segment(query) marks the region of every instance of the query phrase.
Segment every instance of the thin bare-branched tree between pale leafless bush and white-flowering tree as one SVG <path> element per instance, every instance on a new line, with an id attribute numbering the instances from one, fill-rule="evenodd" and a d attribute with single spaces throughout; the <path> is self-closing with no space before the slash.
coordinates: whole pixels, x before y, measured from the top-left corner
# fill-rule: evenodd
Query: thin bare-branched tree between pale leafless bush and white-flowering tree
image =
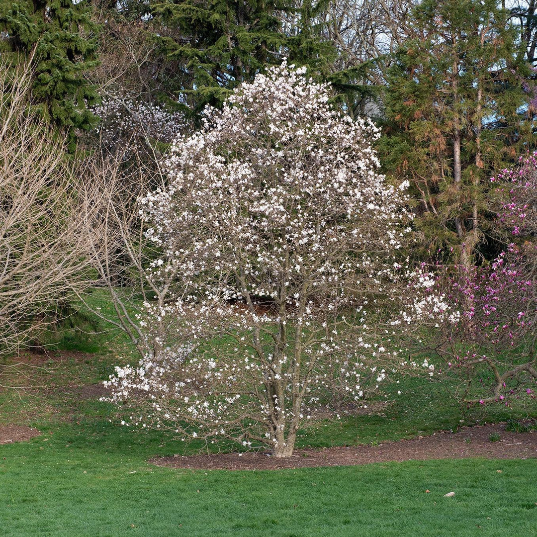
<path id="1" fill-rule="evenodd" d="M 129 154 L 127 170 L 121 154 L 112 156 L 106 151 L 93 154 L 85 169 L 100 204 L 99 229 L 96 233 L 93 223 L 86 219 L 81 234 L 97 273 L 96 284 L 107 289 L 115 315 L 104 315 L 86 292 L 73 291 L 101 320 L 124 331 L 144 357 L 159 353 L 158 342 L 164 334 L 173 332 L 166 324 L 170 320 L 164 318 L 142 330 L 139 320 L 144 304 L 164 307 L 175 275 L 170 271 L 159 280 L 150 278 L 148 269 L 160 252 L 146 236 L 147 224 L 140 214 L 139 200 L 155 188 L 164 188 L 165 177 L 158 162 L 144 163 L 136 148 Z"/>

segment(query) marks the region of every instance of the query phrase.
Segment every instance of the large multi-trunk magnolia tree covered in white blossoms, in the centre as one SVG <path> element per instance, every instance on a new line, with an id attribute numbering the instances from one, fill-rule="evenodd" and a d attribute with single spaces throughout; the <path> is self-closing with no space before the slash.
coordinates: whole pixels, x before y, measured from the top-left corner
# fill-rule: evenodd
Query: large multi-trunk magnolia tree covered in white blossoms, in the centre
<path id="1" fill-rule="evenodd" d="M 377 171 L 378 130 L 329 96 L 284 64 L 173 143 L 169 186 L 142 201 L 163 251 L 150 278 L 175 282 L 142 324 L 168 328 L 108 382 L 145 396 L 129 423 L 289 456 L 304 420 L 356 408 L 393 369 L 365 310 L 395 285 L 405 197 Z"/>

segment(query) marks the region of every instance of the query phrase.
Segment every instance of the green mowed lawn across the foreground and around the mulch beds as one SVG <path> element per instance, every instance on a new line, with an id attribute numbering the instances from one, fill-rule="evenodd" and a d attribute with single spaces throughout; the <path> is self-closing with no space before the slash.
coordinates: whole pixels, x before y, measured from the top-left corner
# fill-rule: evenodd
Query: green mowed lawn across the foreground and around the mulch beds
<path id="1" fill-rule="evenodd" d="M 109 313 L 97 293 L 96 300 Z M 149 465 L 152 456 L 192 453 L 200 445 L 121 427 L 118 409 L 77 391 L 106 379 L 114 364 L 134 363 L 125 338 L 75 331 L 66 340 L 69 351 L 98 352 L 52 355 L 42 360 L 43 369 L 26 371 L 42 388 L 0 390 L 0 424 L 42 432 L 0 446 L 0 535 L 537 534 L 537 459 L 251 472 Z M 449 397 L 446 382 L 394 379 L 371 401 L 373 412 L 311 425 L 299 446 L 375 444 L 537 417 L 529 398 L 510 408 L 465 410 Z M 450 491 L 455 496 L 445 498 Z"/>

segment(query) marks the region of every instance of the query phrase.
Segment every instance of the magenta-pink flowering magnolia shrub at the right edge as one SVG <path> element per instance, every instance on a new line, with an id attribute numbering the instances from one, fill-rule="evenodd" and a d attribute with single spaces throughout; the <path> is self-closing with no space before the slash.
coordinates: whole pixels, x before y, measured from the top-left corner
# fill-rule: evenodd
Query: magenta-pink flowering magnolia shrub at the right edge
<path id="1" fill-rule="evenodd" d="M 442 357 L 444 372 L 460 380 L 462 401 L 507 404 L 519 394 L 535 397 L 537 381 L 536 155 L 492 182 L 505 200 L 497 225 L 519 244 L 490 265 L 434 267 L 415 299 L 422 309 L 403 311 L 397 324 L 419 320 L 418 346 Z"/>

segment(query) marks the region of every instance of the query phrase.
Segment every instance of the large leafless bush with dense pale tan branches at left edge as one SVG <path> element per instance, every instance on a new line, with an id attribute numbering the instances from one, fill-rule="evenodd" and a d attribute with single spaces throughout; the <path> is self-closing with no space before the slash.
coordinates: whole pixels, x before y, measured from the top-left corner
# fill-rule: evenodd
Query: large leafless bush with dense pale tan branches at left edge
<path id="1" fill-rule="evenodd" d="M 81 229 L 99 225 L 63 140 L 31 111 L 30 75 L 31 62 L 0 64 L 0 357 L 54 323 L 59 303 L 85 285 Z"/>

